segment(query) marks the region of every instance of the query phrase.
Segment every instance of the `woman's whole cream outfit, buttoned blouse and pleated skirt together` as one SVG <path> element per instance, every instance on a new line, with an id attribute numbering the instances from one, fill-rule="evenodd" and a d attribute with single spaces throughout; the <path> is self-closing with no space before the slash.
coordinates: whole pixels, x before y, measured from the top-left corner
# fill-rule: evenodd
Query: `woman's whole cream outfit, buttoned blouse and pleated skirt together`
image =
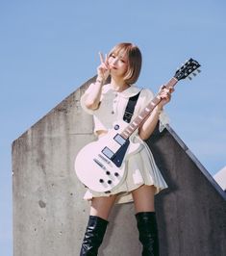
<path id="1" fill-rule="evenodd" d="M 94 87 L 91 84 L 91 87 Z M 89 110 L 85 106 L 85 100 L 88 95 L 88 90 L 81 97 L 81 106 L 89 114 L 93 115 L 94 121 L 94 134 L 98 130 L 108 130 L 113 127 L 113 122 L 123 119 L 125 108 L 127 106 L 129 97 L 134 96 L 140 91 L 135 85 L 131 86 L 127 90 L 117 92 L 113 90 L 113 87 L 108 84 L 103 86 L 102 94 L 100 98 L 100 106 L 97 110 Z M 154 94 L 151 90 L 143 89 L 140 91 L 138 102 L 135 108 L 133 117 L 137 116 L 145 106 L 151 101 Z M 164 125 L 168 122 L 167 116 L 162 112 L 160 114 L 160 132 L 163 131 Z M 110 193 L 105 192 L 86 192 L 84 198 L 91 200 L 92 197 L 110 196 L 111 194 L 118 194 L 116 203 L 126 203 L 133 201 L 132 191 L 138 189 L 141 185 L 154 185 L 156 193 L 167 188 L 167 185 L 163 179 L 161 171 L 156 165 L 151 150 L 147 144 L 138 137 L 138 133 L 134 139 L 136 142 L 140 142 L 142 145 L 141 150 L 138 153 L 133 154 L 126 160 L 127 176 L 122 185 L 115 191 Z"/>

